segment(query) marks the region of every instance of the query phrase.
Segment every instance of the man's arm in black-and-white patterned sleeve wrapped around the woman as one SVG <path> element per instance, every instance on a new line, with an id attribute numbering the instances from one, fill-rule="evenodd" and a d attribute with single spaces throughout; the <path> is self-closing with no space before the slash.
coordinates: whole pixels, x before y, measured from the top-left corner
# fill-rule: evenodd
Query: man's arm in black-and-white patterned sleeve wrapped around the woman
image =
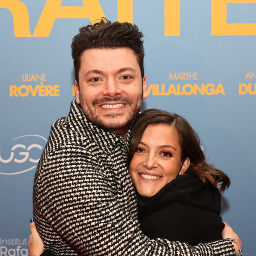
<path id="1" fill-rule="evenodd" d="M 103 158 L 97 154 L 68 145 L 39 165 L 34 215 L 46 249 L 69 254 L 61 248 L 68 245 L 84 255 L 235 255 L 228 241 L 189 246 L 144 236 L 136 215 L 124 206 L 114 184 L 113 177 L 127 189 L 128 171 L 120 171 L 119 177 L 115 171 L 102 171 Z"/>

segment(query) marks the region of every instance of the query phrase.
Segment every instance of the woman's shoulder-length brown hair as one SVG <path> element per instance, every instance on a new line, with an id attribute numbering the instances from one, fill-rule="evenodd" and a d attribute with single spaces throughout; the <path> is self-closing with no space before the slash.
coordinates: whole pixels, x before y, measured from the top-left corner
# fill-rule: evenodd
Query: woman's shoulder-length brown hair
<path id="1" fill-rule="evenodd" d="M 150 124 L 169 124 L 176 128 L 181 145 L 181 161 L 183 162 L 187 157 L 190 159 L 190 165 L 186 173 L 196 175 L 203 183 L 206 183 L 208 180 L 215 187 L 220 183 L 220 192 L 224 192 L 230 186 L 229 177 L 206 162 L 200 138 L 188 121 L 177 114 L 168 113 L 160 109 L 145 110 L 136 118 L 131 132 L 128 165 L 132 161 L 144 131 Z"/>

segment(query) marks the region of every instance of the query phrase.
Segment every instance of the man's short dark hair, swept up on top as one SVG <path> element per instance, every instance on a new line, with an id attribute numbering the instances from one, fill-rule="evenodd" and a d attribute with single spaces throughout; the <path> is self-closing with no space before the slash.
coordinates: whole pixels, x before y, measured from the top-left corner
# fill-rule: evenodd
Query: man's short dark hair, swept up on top
<path id="1" fill-rule="evenodd" d="M 75 79 L 79 84 L 78 72 L 81 64 L 81 55 L 87 49 L 102 48 L 130 48 L 136 54 L 141 76 L 144 76 L 144 48 L 143 34 L 136 25 L 128 22 L 120 23 L 102 18 L 94 25 L 83 26 L 79 29 L 72 41 L 72 58 L 74 59 Z"/>

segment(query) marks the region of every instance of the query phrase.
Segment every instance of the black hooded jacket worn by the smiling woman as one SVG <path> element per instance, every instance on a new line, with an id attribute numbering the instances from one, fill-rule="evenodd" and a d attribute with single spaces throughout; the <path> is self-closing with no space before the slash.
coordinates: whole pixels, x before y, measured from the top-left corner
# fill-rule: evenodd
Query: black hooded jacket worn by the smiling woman
<path id="1" fill-rule="evenodd" d="M 220 198 L 218 188 L 193 174 L 177 177 L 144 201 L 138 214 L 141 230 L 151 239 L 190 245 L 220 240 L 224 228 Z"/>

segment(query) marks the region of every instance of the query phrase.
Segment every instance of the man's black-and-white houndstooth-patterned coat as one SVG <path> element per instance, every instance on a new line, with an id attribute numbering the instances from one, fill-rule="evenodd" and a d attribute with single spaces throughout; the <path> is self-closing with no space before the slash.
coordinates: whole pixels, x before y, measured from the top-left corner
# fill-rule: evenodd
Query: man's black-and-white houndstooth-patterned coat
<path id="1" fill-rule="evenodd" d="M 196 247 L 150 240 L 139 230 L 126 166 L 129 142 L 94 126 L 75 100 L 57 120 L 38 163 L 33 207 L 38 231 L 56 255 L 230 256 L 228 241 Z"/>

